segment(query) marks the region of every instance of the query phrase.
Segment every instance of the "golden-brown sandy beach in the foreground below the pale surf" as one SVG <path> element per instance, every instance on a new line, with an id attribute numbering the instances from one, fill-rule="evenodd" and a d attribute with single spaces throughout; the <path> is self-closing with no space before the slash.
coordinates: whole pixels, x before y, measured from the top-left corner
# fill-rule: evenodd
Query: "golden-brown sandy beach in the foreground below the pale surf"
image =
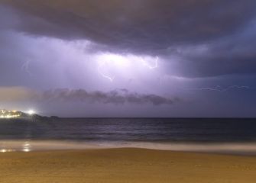
<path id="1" fill-rule="evenodd" d="M 0 153 L 0 182 L 256 182 L 256 157 L 151 149 Z"/>

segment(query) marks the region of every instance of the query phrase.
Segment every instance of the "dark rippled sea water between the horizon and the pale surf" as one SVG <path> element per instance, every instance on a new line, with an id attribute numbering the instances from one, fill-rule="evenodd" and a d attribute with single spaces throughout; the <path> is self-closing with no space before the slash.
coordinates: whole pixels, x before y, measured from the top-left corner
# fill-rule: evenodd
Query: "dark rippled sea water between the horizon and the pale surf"
<path id="1" fill-rule="evenodd" d="M 256 142 L 256 119 L 60 118 L 0 120 L 0 140 Z"/>

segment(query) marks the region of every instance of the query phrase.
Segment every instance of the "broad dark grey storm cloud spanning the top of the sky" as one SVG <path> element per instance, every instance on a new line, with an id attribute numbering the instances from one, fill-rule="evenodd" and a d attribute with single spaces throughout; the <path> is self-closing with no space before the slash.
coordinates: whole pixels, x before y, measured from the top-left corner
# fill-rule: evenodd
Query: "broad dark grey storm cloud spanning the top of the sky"
<path id="1" fill-rule="evenodd" d="M 28 33 L 145 52 L 231 34 L 255 15 L 253 0 L 2 1 L 25 13 Z"/>

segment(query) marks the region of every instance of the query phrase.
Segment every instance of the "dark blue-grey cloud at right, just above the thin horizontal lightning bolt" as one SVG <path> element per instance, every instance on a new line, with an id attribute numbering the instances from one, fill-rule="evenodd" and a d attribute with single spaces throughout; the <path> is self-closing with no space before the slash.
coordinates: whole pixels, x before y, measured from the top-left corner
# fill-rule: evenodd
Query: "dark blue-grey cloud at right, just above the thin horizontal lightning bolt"
<path id="1" fill-rule="evenodd" d="M 239 34 L 231 34 L 211 43 L 181 47 L 174 53 L 182 59 L 177 70 L 186 77 L 256 74 L 256 21 Z"/>

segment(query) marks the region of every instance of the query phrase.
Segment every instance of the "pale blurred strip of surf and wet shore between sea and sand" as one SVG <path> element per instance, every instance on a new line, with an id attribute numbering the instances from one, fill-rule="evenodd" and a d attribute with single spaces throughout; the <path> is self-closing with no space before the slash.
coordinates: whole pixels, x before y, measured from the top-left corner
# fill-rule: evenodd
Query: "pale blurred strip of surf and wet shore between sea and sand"
<path id="1" fill-rule="evenodd" d="M 256 156 L 256 143 L 77 142 L 71 140 L 0 140 L 0 152 L 41 152 L 86 149 L 154 149 Z"/>

